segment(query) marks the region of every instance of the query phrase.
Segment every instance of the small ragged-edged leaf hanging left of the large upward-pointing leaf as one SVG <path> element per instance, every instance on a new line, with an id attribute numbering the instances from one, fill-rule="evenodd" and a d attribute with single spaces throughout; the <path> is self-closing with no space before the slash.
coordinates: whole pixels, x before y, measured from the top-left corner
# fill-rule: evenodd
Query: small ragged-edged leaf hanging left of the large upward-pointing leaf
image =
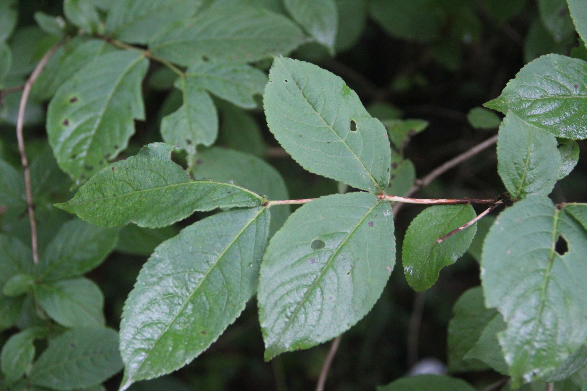
<path id="1" fill-rule="evenodd" d="M 176 87 L 183 94 L 183 105 L 163 118 L 161 136 L 193 155 L 197 145 L 210 147 L 216 141 L 218 114 L 210 95 L 191 77 L 178 79 Z"/>

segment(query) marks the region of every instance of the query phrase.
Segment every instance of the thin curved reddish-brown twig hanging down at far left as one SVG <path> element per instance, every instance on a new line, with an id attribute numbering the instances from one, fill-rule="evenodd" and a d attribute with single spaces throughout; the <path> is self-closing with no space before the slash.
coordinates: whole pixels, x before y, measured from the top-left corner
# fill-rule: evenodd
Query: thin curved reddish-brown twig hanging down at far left
<path id="1" fill-rule="evenodd" d="M 35 264 L 39 263 L 39 250 L 36 236 L 35 203 L 33 201 L 33 192 L 31 188 L 31 170 L 29 169 L 29 159 L 26 157 L 25 138 L 22 135 L 22 128 L 25 124 L 26 102 L 28 101 L 29 94 L 31 93 L 31 88 L 36 79 L 39 77 L 39 74 L 41 74 L 43 67 L 45 67 L 45 64 L 49 61 L 49 58 L 53 55 L 53 53 L 55 53 L 55 50 L 57 50 L 59 46 L 63 45 L 64 42 L 65 41 L 62 40 L 61 42 L 51 47 L 51 49 L 45 53 L 41 61 L 39 61 L 33 70 L 33 73 L 31 73 L 31 76 L 29 76 L 29 78 L 25 81 L 24 87 L 22 89 L 21 104 L 18 107 L 18 117 L 16 118 L 16 140 L 18 140 L 18 151 L 21 153 L 21 164 L 25 174 L 26 205 L 29 210 L 29 222 L 31 223 L 31 248 L 33 262 Z"/>

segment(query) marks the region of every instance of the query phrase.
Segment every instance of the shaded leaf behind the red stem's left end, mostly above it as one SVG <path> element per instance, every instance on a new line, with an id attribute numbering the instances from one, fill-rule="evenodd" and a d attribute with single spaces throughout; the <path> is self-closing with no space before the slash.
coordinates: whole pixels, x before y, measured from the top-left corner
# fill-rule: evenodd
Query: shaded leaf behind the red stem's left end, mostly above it
<path id="1" fill-rule="evenodd" d="M 266 161 L 245 152 L 232 149 L 203 149 L 198 152 L 194 166 L 195 178 L 210 178 L 216 182 L 234 181 L 235 185 L 250 189 L 269 199 L 289 199 L 288 189 L 281 174 Z M 288 205 L 271 210 L 269 234 L 281 228 L 289 216 Z"/>

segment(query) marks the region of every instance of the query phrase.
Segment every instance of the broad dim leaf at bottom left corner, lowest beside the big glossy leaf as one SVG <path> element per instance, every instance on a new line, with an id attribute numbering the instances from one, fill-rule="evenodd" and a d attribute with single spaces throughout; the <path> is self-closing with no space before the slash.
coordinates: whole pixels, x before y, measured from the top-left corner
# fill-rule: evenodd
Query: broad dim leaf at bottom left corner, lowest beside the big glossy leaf
<path id="1" fill-rule="evenodd" d="M 121 368 L 116 331 L 76 328 L 49 342 L 28 378 L 36 386 L 74 390 L 102 383 Z"/>

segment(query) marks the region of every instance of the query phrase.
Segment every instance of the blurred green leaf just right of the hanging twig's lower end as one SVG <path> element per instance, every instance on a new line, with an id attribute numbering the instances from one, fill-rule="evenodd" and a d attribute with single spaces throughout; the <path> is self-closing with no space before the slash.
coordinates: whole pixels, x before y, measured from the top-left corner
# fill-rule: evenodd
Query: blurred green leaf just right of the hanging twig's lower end
<path id="1" fill-rule="evenodd" d="M 72 278 L 99 266 L 114 248 L 117 228 L 72 219 L 60 227 L 39 260 L 38 280 Z"/>

